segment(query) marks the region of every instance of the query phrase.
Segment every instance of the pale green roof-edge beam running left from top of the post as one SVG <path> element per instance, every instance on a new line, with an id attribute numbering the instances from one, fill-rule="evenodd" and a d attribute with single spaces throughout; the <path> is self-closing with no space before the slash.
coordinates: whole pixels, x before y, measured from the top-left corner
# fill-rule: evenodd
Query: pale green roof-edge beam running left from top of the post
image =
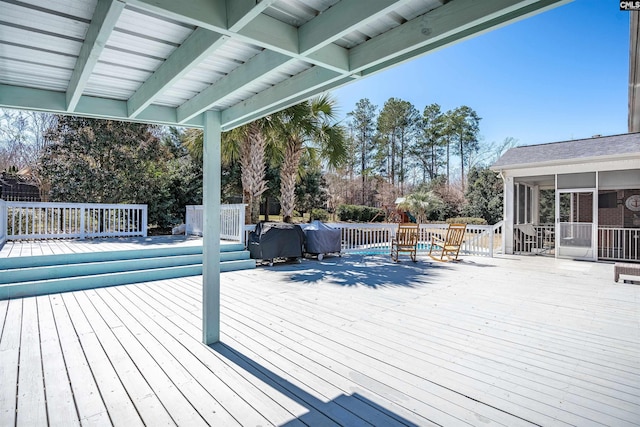
<path id="1" fill-rule="evenodd" d="M 67 111 L 64 92 L 0 84 L 0 108 L 46 111 L 54 114 L 135 121 L 161 125 L 202 127 L 202 115 L 178 123 L 175 108 L 151 105 L 135 119 L 127 114 L 127 102 L 115 99 L 81 96 L 76 109 Z"/>

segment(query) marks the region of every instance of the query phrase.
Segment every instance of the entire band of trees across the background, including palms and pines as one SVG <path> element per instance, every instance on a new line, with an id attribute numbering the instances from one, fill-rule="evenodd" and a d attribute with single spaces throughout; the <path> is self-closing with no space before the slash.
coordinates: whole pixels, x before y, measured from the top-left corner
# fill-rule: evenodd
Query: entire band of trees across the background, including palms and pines
<path id="1" fill-rule="evenodd" d="M 398 196 L 424 220 L 495 222 L 501 183 L 475 166 L 515 140 L 483 147 L 479 121 L 466 106 L 431 104 L 420 114 L 391 98 L 380 111 L 360 100 L 338 122 L 336 101 L 318 97 L 223 133 L 222 200 L 242 200 L 253 223 L 272 200 L 291 220 Z M 145 203 L 150 223 L 168 227 L 202 202 L 202 144 L 197 129 L 3 110 L 0 170 L 26 166 L 48 201 Z"/>

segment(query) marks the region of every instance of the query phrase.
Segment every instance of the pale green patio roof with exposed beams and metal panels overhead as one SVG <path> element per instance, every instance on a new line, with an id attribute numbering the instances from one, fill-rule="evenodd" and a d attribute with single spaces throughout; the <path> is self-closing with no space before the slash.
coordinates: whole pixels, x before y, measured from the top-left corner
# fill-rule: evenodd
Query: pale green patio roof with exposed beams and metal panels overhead
<path id="1" fill-rule="evenodd" d="M 0 0 L 0 106 L 228 130 L 567 2 Z"/>

